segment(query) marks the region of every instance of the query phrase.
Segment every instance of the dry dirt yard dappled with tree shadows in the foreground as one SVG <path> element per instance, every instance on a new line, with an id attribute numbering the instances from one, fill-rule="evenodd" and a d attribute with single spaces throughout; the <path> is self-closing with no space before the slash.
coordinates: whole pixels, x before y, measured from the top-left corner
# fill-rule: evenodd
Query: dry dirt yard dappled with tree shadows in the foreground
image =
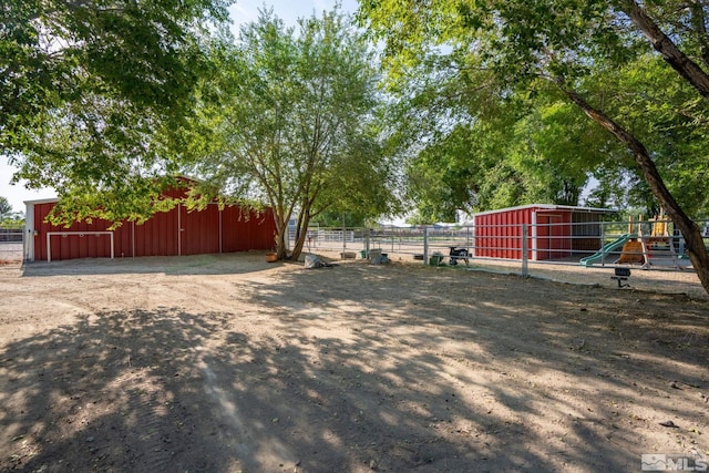
<path id="1" fill-rule="evenodd" d="M 0 471 L 633 472 L 709 451 L 706 299 L 263 254 L 3 265 L 0 294 Z"/>

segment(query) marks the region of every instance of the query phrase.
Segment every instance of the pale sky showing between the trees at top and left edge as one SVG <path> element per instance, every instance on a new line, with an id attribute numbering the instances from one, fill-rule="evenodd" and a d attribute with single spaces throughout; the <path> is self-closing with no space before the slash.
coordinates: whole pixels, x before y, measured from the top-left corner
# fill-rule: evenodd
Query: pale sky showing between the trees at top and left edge
<path id="1" fill-rule="evenodd" d="M 229 8 L 234 33 L 238 34 L 240 23 L 255 21 L 258 18 L 258 9 L 266 7 L 274 9 L 274 13 L 284 20 L 286 25 L 296 25 L 298 18 L 320 16 L 323 10 L 332 10 L 336 0 L 237 0 Z M 357 10 L 357 0 L 341 0 L 341 10 L 353 13 Z M 37 200 L 56 197 L 52 188 L 30 191 L 23 183 L 10 185 L 14 168 L 8 163 L 8 158 L 0 156 L 0 197 L 6 197 L 14 212 L 24 212 L 24 200 Z"/>

